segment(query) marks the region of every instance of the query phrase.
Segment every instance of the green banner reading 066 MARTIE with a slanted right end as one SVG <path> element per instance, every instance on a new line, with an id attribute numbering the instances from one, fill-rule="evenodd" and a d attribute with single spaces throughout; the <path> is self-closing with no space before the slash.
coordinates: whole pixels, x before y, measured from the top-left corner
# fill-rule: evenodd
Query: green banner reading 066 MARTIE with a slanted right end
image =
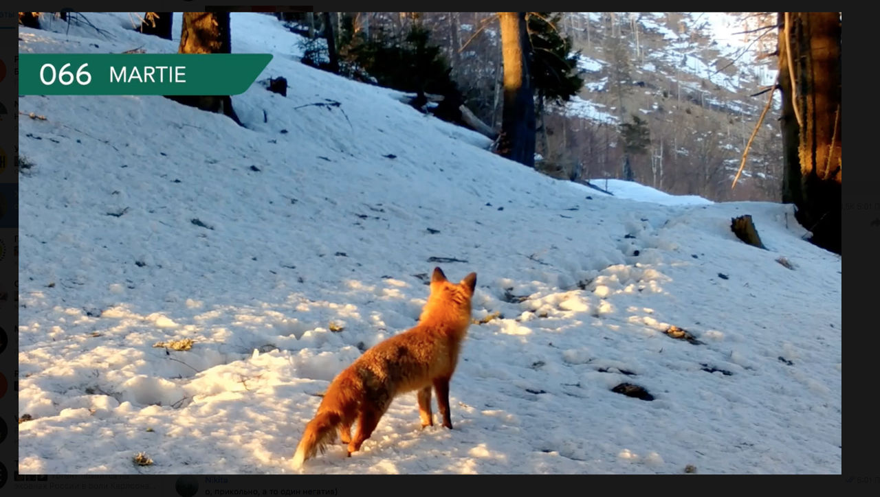
<path id="1" fill-rule="evenodd" d="M 19 54 L 19 95 L 238 95 L 271 54 Z"/>

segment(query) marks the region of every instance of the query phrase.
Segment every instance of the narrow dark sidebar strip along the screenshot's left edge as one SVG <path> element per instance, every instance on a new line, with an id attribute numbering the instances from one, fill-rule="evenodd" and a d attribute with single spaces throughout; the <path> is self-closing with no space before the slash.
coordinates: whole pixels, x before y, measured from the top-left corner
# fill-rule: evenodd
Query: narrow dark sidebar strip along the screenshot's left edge
<path id="1" fill-rule="evenodd" d="M 0 11 L 0 494 L 18 469 L 18 13 Z"/>

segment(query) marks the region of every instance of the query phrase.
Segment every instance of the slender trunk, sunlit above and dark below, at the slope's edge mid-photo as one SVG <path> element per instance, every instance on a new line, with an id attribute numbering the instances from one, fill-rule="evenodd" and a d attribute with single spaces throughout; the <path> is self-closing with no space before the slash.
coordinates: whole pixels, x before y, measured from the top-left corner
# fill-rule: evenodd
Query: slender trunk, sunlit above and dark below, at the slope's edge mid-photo
<path id="1" fill-rule="evenodd" d="M 535 103 L 529 77 L 531 45 L 525 12 L 499 12 L 504 60 L 502 155 L 530 168 L 535 165 Z"/>

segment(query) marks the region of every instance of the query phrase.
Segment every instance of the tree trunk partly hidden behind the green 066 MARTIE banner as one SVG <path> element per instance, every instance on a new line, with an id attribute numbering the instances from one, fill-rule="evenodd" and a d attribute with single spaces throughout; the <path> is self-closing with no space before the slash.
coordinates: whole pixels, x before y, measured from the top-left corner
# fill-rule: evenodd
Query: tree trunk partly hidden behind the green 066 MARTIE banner
<path id="1" fill-rule="evenodd" d="M 180 54 L 230 54 L 229 12 L 183 12 L 180 28 Z M 229 116 L 238 126 L 243 126 L 232 109 L 229 95 L 172 96 L 181 104 L 198 107 L 202 111 L 217 112 Z"/>

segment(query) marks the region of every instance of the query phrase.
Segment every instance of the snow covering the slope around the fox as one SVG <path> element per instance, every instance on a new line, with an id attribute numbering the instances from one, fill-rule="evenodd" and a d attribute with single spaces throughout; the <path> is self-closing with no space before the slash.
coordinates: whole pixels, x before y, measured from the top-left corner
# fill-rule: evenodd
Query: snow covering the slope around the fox
<path id="1" fill-rule="evenodd" d="M 19 51 L 176 50 L 88 17 L 110 36 L 20 28 Z M 19 123 L 19 472 L 294 472 L 318 395 L 414 325 L 437 256 L 477 272 L 474 318 L 502 313 L 464 343 L 455 429 L 420 429 L 408 393 L 303 472 L 840 473 L 841 259 L 790 206 L 554 180 L 304 66 L 274 18 L 232 23 L 235 51 L 275 55 L 233 97 L 246 128 L 163 97 L 20 98 L 46 120 Z M 742 214 L 767 250 L 730 232 Z"/>

